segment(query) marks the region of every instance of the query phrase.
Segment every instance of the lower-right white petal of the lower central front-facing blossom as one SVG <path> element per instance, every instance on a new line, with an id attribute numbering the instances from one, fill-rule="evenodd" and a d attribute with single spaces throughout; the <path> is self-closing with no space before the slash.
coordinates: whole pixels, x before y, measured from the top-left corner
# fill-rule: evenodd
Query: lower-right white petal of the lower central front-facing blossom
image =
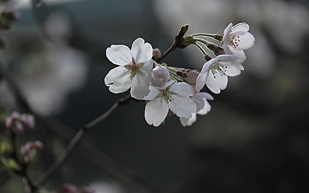
<path id="1" fill-rule="evenodd" d="M 179 117 L 191 118 L 196 111 L 195 103 L 189 98 L 172 95 L 173 100 L 167 106 Z"/>

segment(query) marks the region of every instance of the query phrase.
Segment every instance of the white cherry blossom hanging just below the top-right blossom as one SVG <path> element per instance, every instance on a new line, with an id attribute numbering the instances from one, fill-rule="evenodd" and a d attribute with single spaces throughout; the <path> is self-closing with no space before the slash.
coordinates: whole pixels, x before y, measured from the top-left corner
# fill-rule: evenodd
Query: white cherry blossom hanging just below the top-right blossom
<path id="1" fill-rule="evenodd" d="M 219 94 L 227 86 L 227 76 L 239 75 L 240 70 L 243 70 L 238 59 L 236 56 L 223 54 L 206 62 L 197 77 L 196 90 L 199 92 L 206 84 L 209 90 Z"/>

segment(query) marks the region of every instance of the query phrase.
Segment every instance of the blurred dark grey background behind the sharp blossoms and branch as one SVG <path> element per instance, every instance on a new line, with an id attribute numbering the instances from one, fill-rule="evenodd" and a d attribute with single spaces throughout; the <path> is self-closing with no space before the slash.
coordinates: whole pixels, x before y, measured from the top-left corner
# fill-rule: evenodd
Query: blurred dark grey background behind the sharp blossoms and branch
<path id="1" fill-rule="evenodd" d="M 229 23 L 246 22 L 255 37 L 255 45 L 244 51 L 245 70 L 229 78 L 226 90 L 203 89 L 214 97 L 212 109 L 197 115 L 191 127 L 182 127 L 175 115 L 163 126 L 150 126 L 145 104 L 131 102 L 87 133 L 87 143 L 53 174 L 48 190 L 70 182 L 90 183 L 100 193 L 153 191 L 112 174 L 100 162 L 104 155 L 94 153 L 99 151 L 167 192 L 308 191 L 309 1 L 43 0 L 32 8 L 30 1 L 15 0 L 1 5 L 19 10 L 20 19 L 1 34 L 6 49 L 0 56 L 31 109 L 58 128 L 37 121 L 22 139 L 45 145 L 31 165 L 35 179 L 66 147 L 65 139 L 129 94 L 113 94 L 104 84 L 115 67 L 105 54 L 110 45 L 131 47 L 142 37 L 163 53 L 184 24 L 190 26 L 188 35 L 222 34 Z M 201 70 L 205 59 L 189 46 L 163 62 Z M 0 104 L 23 111 L 5 80 Z M 96 149 L 87 154 L 89 146 Z M 4 193 L 23 191 L 15 175 L 0 186 Z"/>

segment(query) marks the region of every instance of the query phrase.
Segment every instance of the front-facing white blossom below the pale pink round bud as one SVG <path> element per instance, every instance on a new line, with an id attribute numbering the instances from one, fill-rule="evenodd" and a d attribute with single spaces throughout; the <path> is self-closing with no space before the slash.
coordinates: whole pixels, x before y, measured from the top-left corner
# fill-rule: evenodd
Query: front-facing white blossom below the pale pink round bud
<path id="1" fill-rule="evenodd" d="M 185 82 L 171 80 L 163 86 L 150 85 L 150 93 L 144 100 L 151 100 L 145 107 L 145 119 L 148 124 L 159 126 L 166 118 L 169 109 L 179 117 L 191 118 L 196 112 L 195 103 L 189 98 L 193 96 L 192 86 Z"/>

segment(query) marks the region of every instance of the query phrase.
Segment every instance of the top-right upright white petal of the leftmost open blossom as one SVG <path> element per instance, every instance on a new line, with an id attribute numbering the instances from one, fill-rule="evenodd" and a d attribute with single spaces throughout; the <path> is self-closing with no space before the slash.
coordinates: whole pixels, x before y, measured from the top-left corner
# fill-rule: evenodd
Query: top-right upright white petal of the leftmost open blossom
<path id="1" fill-rule="evenodd" d="M 144 43 L 142 38 L 138 38 L 132 44 L 131 52 L 136 64 L 146 63 L 152 58 L 152 46 Z"/>

